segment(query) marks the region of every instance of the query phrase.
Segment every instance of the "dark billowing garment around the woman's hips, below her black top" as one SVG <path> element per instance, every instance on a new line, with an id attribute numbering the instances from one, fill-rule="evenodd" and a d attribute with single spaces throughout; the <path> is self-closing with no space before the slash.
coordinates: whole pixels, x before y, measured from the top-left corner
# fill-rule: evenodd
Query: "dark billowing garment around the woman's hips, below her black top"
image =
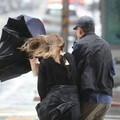
<path id="1" fill-rule="evenodd" d="M 56 85 L 36 106 L 40 120 L 79 120 L 80 104 L 75 85 Z"/>

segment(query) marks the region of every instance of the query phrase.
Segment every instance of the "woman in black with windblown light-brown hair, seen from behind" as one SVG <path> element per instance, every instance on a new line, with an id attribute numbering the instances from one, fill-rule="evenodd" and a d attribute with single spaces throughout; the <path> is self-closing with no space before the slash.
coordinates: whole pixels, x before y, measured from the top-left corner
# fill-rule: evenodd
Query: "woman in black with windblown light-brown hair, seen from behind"
<path id="1" fill-rule="evenodd" d="M 80 105 L 77 72 L 72 54 L 63 52 L 64 41 L 59 34 L 29 39 L 22 50 L 30 57 L 40 58 L 36 106 L 40 120 L 78 120 Z"/>

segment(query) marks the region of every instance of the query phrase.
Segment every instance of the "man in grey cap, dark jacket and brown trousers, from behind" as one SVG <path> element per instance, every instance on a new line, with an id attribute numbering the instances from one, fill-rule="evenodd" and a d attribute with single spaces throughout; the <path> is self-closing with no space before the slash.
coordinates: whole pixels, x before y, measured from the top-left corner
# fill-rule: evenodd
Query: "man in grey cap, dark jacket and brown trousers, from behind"
<path id="1" fill-rule="evenodd" d="M 80 120 L 103 120 L 112 101 L 113 60 L 109 44 L 95 34 L 94 20 L 82 16 L 74 30 L 82 116 Z"/>

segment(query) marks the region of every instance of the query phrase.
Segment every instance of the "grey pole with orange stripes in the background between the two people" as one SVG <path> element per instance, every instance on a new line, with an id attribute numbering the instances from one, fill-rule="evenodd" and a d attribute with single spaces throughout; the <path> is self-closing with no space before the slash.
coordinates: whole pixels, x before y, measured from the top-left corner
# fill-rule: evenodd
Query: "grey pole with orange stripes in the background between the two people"
<path id="1" fill-rule="evenodd" d="M 63 0 L 61 34 L 65 41 L 65 51 L 68 51 L 68 23 L 69 23 L 69 2 L 68 0 Z"/>

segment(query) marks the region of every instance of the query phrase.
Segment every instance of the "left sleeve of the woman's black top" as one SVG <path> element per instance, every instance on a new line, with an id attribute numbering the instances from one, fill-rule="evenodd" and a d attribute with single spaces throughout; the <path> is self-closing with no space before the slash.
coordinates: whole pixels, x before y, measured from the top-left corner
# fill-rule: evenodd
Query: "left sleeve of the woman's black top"
<path id="1" fill-rule="evenodd" d="M 37 84 L 38 94 L 39 94 L 41 100 L 43 100 L 47 94 L 46 88 L 47 87 L 46 87 L 45 63 L 44 63 L 44 61 L 41 60 L 40 65 L 39 65 L 38 84 Z"/>

